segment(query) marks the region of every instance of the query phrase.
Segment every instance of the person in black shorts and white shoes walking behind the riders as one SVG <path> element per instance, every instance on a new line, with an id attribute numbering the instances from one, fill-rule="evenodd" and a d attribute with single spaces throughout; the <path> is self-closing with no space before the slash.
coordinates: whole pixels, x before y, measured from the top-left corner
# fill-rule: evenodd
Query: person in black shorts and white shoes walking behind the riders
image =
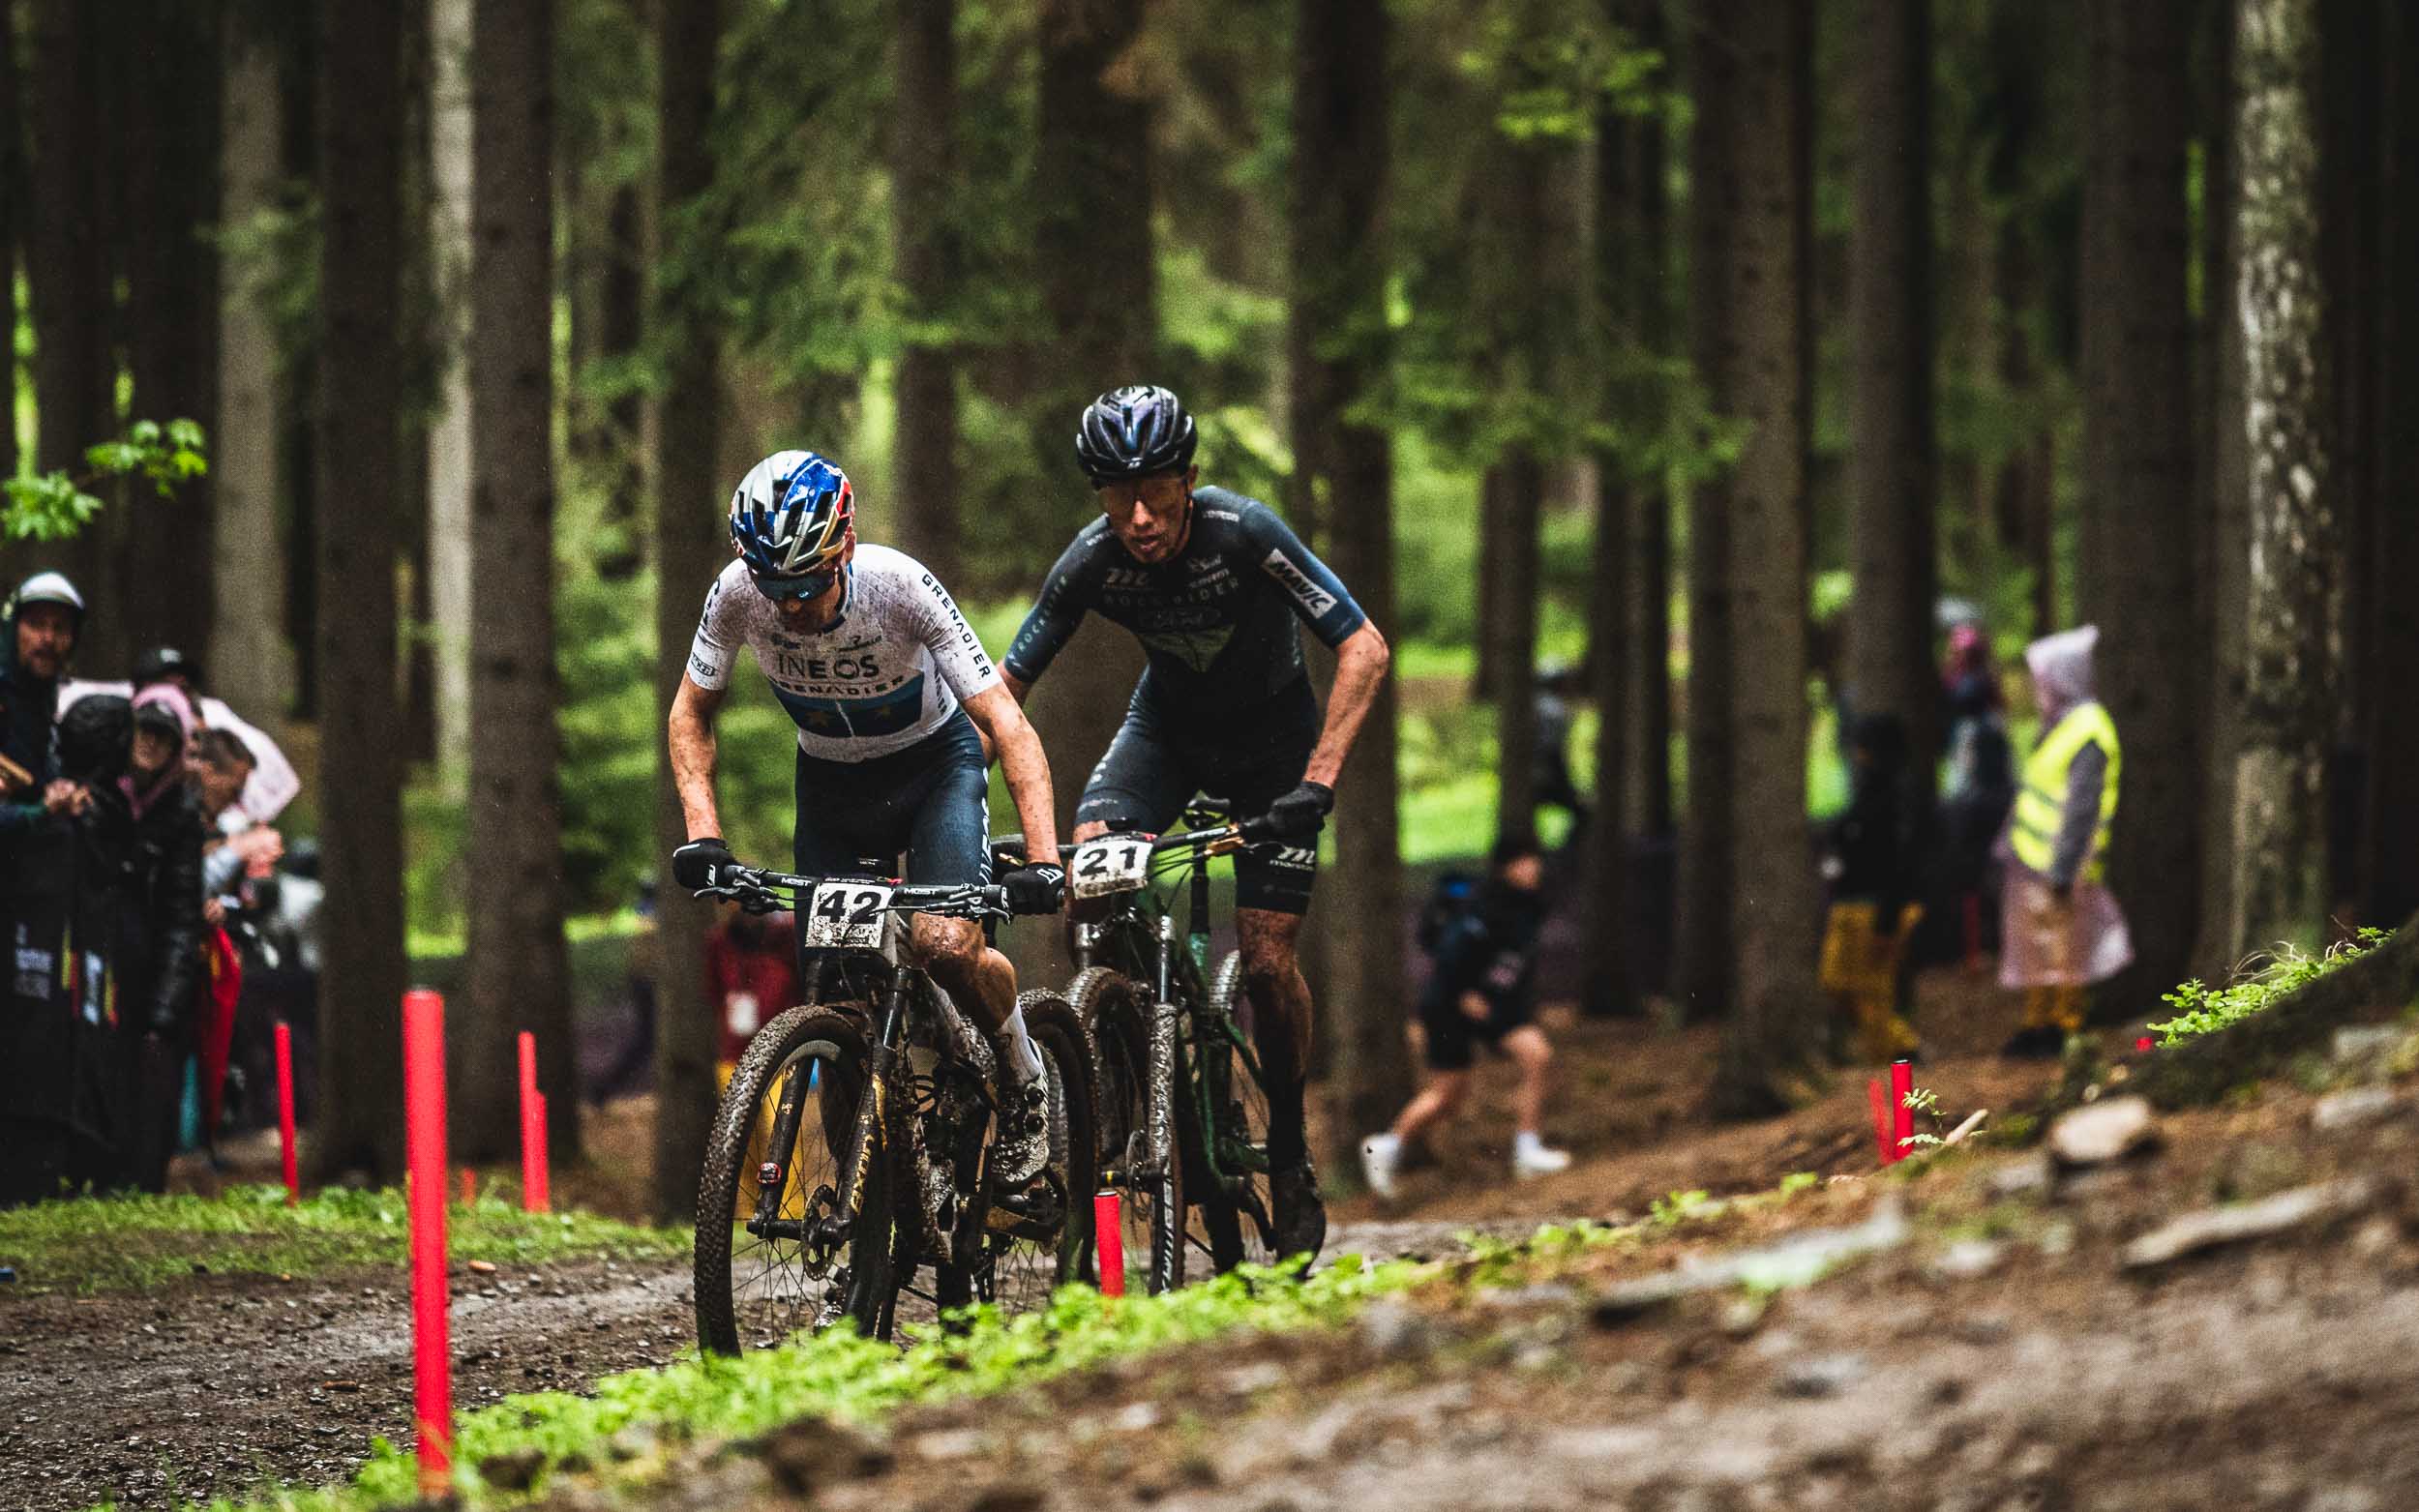
<path id="1" fill-rule="evenodd" d="M 1391 1198 L 1403 1144 L 1454 1118 L 1471 1093 L 1476 1045 L 1493 1045 L 1519 1067 L 1512 1103 L 1512 1176 L 1546 1176 L 1570 1166 L 1570 1152 L 1548 1149 L 1538 1125 L 1546 1113 L 1546 1074 L 1553 1045 L 1531 1023 L 1536 934 L 1546 919 L 1546 856 L 1531 839 L 1500 839 L 1485 885 L 1456 912 L 1434 941 L 1434 970 L 1420 992 L 1420 1031 L 1427 1040 L 1427 1086 L 1396 1115 L 1393 1127 L 1362 1139 L 1362 1176 L 1379 1198 Z"/>

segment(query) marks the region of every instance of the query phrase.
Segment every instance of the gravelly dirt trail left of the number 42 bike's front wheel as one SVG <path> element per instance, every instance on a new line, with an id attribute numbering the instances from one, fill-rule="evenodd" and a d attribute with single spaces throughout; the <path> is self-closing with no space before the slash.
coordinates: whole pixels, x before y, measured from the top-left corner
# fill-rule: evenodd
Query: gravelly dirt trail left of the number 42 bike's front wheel
<path id="1" fill-rule="evenodd" d="M 687 1265 L 460 1275 L 455 1398 L 576 1391 L 694 1338 Z M 339 1481 L 373 1435 L 411 1430 L 411 1311 L 399 1272 L 196 1277 L 133 1297 L 0 1304 L 0 1507 Z"/>

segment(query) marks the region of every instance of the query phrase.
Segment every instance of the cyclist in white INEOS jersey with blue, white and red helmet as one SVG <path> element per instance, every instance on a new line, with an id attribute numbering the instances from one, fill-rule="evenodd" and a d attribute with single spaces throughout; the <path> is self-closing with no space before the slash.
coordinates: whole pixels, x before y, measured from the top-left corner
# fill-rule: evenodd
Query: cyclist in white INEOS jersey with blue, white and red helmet
<path id="1" fill-rule="evenodd" d="M 1043 743 L 948 590 L 905 552 L 856 544 L 847 474 L 815 452 L 774 452 L 731 496 L 738 556 L 706 590 L 672 699 L 672 781 L 689 842 L 682 888 L 733 864 L 714 803 L 714 714 L 740 648 L 798 726 L 796 868 L 883 868 L 905 852 L 914 885 L 985 885 L 982 735 L 1026 827 L 1030 861 L 999 878 L 1021 914 L 1060 910 L 1057 827 Z M 1016 968 L 972 919 L 917 914 L 910 948 L 992 1031 L 1001 1064 L 999 1178 L 1030 1181 L 1047 1154 L 1043 1062 L 1016 1011 Z"/>

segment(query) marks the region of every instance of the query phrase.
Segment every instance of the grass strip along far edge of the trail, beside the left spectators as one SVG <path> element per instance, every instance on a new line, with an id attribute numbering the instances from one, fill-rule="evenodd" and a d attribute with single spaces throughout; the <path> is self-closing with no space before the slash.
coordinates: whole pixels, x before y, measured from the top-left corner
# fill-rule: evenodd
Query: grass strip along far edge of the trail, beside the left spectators
<path id="1" fill-rule="evenodd" d="M 452 1205 L 457 1260 L 532 1265 L 571 1258 L 668 1260 L 689 1229 L 641 1229 L 585 1212 L 523 1212 L 506 1198 Z M 285 1188 L 239 1185 L 220 1198 L 68 1198 L 0 1212 L 0 1263 L 29 1292 L 123 1292 L 210 1272 L 312 1275 L 402 1265 L 411 1217 L 399 1188 L 329 1188 L 285 1207 Z"/>

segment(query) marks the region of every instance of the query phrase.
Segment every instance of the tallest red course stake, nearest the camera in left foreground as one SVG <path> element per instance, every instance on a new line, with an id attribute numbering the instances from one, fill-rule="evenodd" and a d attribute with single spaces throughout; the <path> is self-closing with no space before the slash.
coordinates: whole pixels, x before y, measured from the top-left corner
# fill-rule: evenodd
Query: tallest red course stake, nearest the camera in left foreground
<path id="1" fill-rule="evenodd" d="M 411 1166 L 411 1418 L 421 1490 L 452 1468 L 452 1350 L 445 1338 L 445 999 L 404 994 L 404 1144 Z"/>

